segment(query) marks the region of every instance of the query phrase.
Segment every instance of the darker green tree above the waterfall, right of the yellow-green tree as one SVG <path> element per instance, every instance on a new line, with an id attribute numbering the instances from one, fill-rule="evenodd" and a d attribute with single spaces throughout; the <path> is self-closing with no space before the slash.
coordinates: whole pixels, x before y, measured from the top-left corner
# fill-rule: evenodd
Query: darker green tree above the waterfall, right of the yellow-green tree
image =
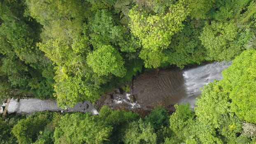
<path id="1" fill-rule="evenodd" d="M 205 60 L 205 47 L 198 38 L 202 32 L 204 21 L 187 18 L 180 32 L 172 36 L 168 46 L 168 63 L 184 67 L 184 65 L 201 63 Z"/>

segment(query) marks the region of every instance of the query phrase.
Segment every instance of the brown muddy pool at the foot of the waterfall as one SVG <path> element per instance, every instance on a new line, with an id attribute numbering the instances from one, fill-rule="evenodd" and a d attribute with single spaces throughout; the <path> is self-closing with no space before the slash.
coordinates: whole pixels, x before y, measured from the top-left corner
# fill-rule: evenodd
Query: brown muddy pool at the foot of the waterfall
<path id="1" fill-rule="evenodd" d="M 145 70 L 133 82 L 133 95 L 144 110 L 179 103 L 186 96 L 182 70 Z"/>

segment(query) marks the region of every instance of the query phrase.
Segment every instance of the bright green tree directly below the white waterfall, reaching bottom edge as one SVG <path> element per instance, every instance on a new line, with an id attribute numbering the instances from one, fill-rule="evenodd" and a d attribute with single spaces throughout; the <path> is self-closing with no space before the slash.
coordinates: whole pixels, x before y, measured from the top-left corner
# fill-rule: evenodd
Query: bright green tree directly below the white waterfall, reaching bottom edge
<path id="1" fill-rule="evenodd" d="M 228 91 L 222 85 L 221 81 L 209 83 L 196 103 L 198 137 L 202 143 L 236 143 L 236 133 L 242 132 L 242 121 L 231 112 Z"/>

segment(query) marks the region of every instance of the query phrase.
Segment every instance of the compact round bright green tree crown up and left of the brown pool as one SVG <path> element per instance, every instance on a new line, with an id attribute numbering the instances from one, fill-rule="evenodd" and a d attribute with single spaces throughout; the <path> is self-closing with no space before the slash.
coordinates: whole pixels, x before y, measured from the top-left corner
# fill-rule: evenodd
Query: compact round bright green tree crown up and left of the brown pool
<path id="1" fill-rule="evenodd" d="M 92 67 L 93 72 L 99 76 L 114 74 L 117 77 L 123 77 L 126 69 L 119 52 L 112 46 L 102 46 L 99 49 L 89 53 L 87 63 Z"/>

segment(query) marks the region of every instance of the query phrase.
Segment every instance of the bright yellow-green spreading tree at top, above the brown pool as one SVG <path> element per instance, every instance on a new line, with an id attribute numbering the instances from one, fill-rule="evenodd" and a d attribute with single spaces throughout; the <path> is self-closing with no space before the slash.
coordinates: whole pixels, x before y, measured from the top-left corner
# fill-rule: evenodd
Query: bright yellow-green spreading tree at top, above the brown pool
<path id="1" fill-rule="evenodd" d="M 182 21 L 188 13 L 182 2 L 170 5 L 169 11 L 152 15 L 138 7 L 130 10 L 129 27 L 131 33 L 140 39 L 140 58 L 145 61 L 145 67 L 159 67 L 167 61 L 163 49 L 170 44 L 172 35 L 182 29 Z"/>

